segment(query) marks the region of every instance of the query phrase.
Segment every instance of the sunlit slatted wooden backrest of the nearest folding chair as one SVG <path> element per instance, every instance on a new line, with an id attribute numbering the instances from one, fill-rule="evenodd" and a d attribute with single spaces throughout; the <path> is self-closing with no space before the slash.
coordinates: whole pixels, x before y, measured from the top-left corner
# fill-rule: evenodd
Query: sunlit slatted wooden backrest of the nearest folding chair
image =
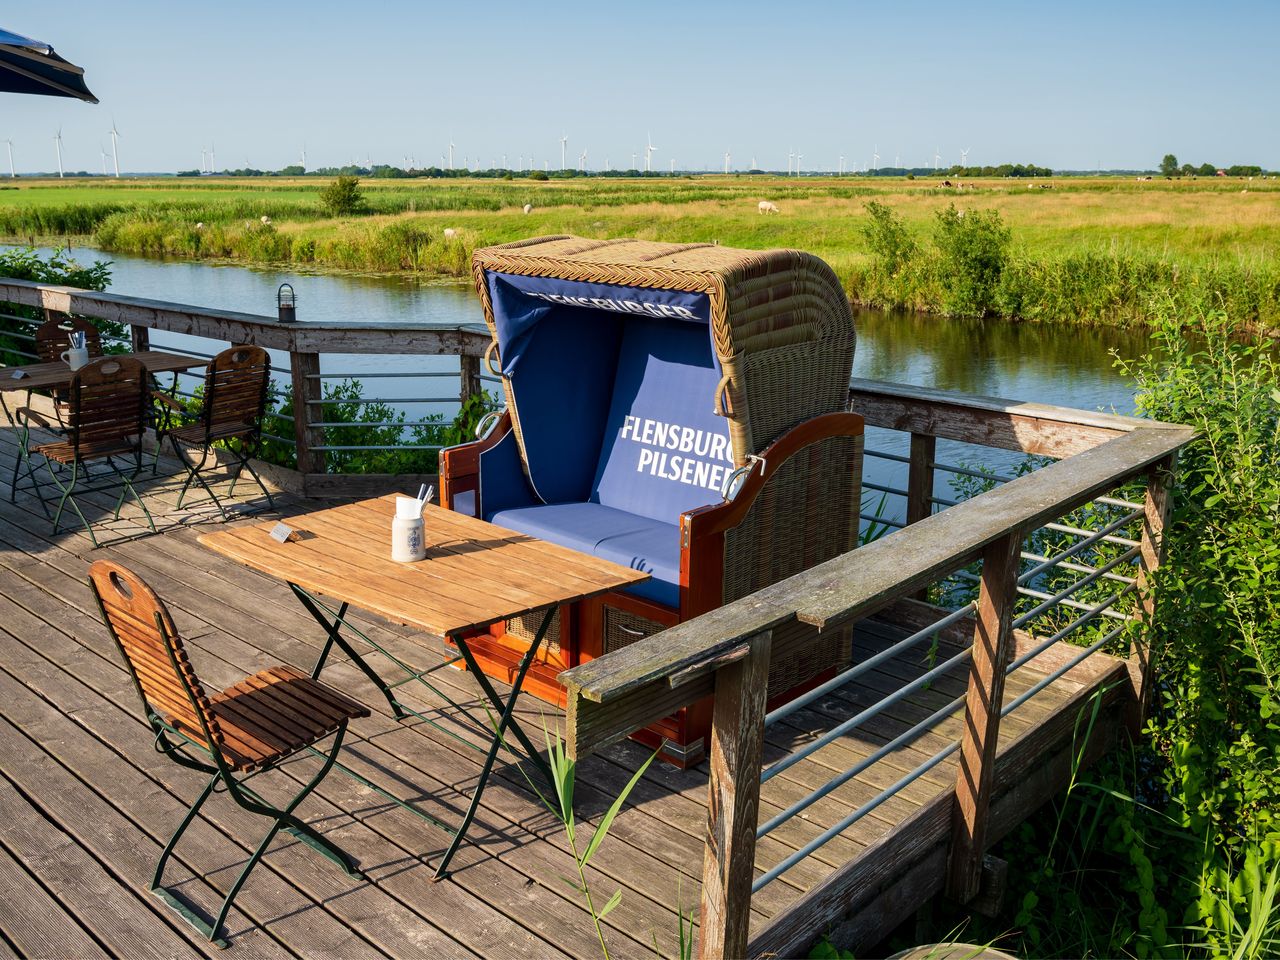
<path id="1" fill-rule="evenodd" d="M 224 744 L 223 731 L 164 602 L 142 577 L 114 561 L 93 562 L 88 577 L 148 719 L 163 717 L 216 753 Z"/>

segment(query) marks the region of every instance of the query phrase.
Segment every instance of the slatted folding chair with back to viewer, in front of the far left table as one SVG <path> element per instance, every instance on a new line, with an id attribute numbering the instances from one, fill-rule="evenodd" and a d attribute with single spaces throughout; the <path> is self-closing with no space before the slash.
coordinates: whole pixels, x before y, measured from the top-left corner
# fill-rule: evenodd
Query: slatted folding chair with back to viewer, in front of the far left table
<path id="1" fill-rule="evenodd" d="M 142 508 L 151 530 L 156 529 L 151 511 L 133 488 L 133 480 L 142 470 L 142 435 L 147 428 L 148 396 L 150 378 L 141 361 L 132 357 L 100 357 L 82 366 L 72 378 L 63 439 L 31 447 L 32 426 L 59 433 L 59 424 L 31 408 L 18 411 L 22 431 L 19 456 L 27 466 L 32 490 L 45 516 L 50 516 L 49 499 L 36 480 L 32 454 L 44 458 L 49 476 L 61 494 L 58 511 L 51 515 L 55 534 L 61 529 L 63 509 L 70 504 L 97 547 L 93 525 L 84 517 L 76 495 L 113 489 L 116 484 L 120 495 L 115 500 L 115 518 L 120 516 L 125 495 L 131 494 Z M 90 465 L 93 462 L 104 462 L 109 472 L 92 477 Z M 122 471 L 120 463 L 128 462 L 132 462 L 132 468 Z"/>

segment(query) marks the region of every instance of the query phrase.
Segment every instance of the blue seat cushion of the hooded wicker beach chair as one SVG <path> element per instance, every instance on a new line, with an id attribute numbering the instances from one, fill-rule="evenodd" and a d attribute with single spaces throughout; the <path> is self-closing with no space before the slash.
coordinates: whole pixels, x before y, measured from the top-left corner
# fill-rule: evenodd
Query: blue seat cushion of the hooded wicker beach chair
<path id="1" fill-rule="evenodd" d="M 649 573 L 627 588 L 646 600 L 680 608 L 680 527 L 602 503 L 552 503 L 502 509 L 490 524 L 590 553 Z"/>

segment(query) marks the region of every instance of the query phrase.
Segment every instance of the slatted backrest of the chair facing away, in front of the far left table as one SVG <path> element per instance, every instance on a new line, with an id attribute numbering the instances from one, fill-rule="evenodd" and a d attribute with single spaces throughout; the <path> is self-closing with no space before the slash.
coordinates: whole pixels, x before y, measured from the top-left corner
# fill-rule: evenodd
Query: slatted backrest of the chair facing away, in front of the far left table
<path id="1" fill-rule="evenodd" d="M 99 357 L 72 378 L 67 426 L 77 456 L 91 445 L 141 438 L 147 426 L 150 379 L 133 357 Z"/>

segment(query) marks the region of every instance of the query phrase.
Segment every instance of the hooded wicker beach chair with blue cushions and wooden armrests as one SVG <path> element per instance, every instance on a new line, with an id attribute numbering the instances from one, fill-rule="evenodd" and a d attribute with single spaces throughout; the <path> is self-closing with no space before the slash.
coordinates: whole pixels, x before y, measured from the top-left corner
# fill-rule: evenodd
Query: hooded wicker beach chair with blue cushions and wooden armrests
<path id="1" fill-rule="evenodd" d="M 545 237 L 477 251 L 474 274 L 507 411 L 442 453 L 443 503 L 652 573 L 562 609 L 526 689 L 556 699 L 564 667 L 856 545 L 854 323 L 823 261 Z M 506 676 L 529 626 L 483 637 L 485 668 Z M 771 700 L 847 657 L 847 632 L 813 639 L 772 664 Z M 696 763 L 709 719 L 704 703 L 640 739 Z"/>

